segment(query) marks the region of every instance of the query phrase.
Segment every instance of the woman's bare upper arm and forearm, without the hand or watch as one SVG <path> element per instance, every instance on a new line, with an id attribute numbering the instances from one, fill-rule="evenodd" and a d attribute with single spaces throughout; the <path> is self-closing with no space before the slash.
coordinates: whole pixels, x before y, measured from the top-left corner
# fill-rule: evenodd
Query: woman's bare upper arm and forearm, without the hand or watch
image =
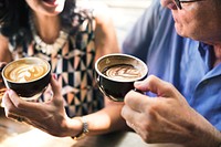
<path id="1" fill-rule="evenodd" d="M 97 9 L 96 9 L 97 8 Z M 98 57 L 120 52 L 116 30 L 108 8 L 105 4 L 97 4 L 95 12 L 95 49 Z M 96 113 L 84 116 L 88 123 L 88 135 L 104 134 L 118 129 L 128 128 L 120 116 L 123 103 L 116 103 L 105 97 L 105 107 Z"/>

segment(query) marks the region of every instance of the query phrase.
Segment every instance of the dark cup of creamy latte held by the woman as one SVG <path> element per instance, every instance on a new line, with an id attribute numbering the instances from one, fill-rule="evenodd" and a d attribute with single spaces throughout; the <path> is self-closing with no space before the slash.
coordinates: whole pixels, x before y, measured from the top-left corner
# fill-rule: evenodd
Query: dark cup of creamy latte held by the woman
<path id="1" fill-rule="evenodd" d="M 35 102 L 50 83 L 51 65 L 39 57 L 23 57 L 8 63 L 2 77 L 6 86 L 21 98 Z"/>

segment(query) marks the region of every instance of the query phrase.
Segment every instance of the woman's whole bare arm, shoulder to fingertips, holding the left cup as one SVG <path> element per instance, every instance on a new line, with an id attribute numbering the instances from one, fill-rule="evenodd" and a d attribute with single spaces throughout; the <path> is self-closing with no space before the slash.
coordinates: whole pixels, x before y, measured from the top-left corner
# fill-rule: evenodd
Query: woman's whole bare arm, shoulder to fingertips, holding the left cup
<path id="1" fill-rule="evenodd" d="M 96 59 L 108 53 L 119 52 L 117 38 L 110 17 L 95 11 L 95 48 Z M 95 60 L 96 60 L 95 59 Z M 82 123 L 77 118 L 70 118 L 64 111 L 61 86 L 52 77 L 53 98 L 49 103 L 28 103 L 18 97 L 13 91 L 3 96 L 6 115 L 17 119 L 24 117 L 24 122 L 54 136 L 76 136 L 82 133 Z M 120 116 L 123 104 L 105 101 L 105 108 L 83 116 L 88 124 L 87 135 L 105 134 L 127 128 Z M 28 111 L 29 109 L 29 111 Z"/>

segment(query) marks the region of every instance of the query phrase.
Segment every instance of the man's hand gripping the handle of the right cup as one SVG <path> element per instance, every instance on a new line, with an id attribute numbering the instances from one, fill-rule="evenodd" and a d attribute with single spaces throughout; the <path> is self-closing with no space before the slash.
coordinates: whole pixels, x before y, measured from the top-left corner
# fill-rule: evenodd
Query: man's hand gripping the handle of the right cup
<path id="1" fill-rule="evenodd" d="M 125 97 L 122 116 L 145 141 L 189 147 L 213 147 L 221 141 L 220 133 L 171 84 L 150 75 L 135 87 L 157 95 L 148 97 L 131 91 Z"/>

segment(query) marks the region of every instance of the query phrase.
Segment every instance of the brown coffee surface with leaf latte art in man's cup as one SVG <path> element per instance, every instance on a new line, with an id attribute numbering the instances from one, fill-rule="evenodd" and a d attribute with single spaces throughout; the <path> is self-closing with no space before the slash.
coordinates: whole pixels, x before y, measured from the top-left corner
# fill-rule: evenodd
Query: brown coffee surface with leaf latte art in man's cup
<path id="1" fill-rule="evenodd" d="M 103 74 L 116 81 L 133 81 L 141 77 L 138 69 L 129 64 L 113 65 L 104 70 Z"/>

